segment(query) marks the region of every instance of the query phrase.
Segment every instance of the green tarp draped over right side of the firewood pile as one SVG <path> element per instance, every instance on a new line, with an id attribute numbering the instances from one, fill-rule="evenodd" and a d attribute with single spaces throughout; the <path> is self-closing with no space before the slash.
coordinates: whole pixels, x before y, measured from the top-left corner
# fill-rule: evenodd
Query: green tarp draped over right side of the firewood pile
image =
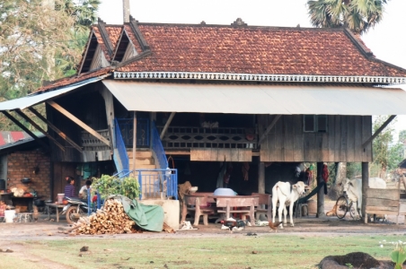
<path id="1" fill-rule="evenodd" d="M 141 204 L 136 199 L 131 200 L 123 195 L 110 195 L 108 199 L 119 200 L 128 214 L 137 225 L 145 230 L 162 231 L 163 230 L 163 208 L 159 205 Z"/>

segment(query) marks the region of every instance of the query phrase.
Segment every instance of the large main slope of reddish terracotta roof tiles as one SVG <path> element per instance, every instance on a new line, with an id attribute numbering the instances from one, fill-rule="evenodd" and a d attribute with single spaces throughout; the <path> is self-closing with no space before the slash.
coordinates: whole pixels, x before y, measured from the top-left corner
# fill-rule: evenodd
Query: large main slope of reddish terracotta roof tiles
<path id="1" fill-rule="evenodd" d="M 406 76 L 344 29 L 138 23 L 152 54 L 120 72 Z M 127 28 L 126 28 L 127 30 Z"/>

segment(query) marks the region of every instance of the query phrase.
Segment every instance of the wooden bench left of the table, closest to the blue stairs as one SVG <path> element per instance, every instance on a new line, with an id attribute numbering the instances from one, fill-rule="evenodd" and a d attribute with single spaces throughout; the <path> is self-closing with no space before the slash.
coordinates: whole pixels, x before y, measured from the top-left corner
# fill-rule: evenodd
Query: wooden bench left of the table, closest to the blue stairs
<path id="1" fill-rule="evenodd" d="M 211 207 L 207 207 L 207 203 L 214 203 L 212 198 L 207 198 L 207 195 L 213 195 L 212 193 L 207 194 L 192 194 L 192 195 L 184 195 L 183 199 L 183 208 L 181 213 L 181 223 L 186 220 L 186 215 L 190 213 L 190 215 L 195 216 L 195 221 L 193 225 L 199 225 L 200 216 L 203 216 L 203 224 L 208 225 L 208 215 L 214 214 L 215 209 Z"/>

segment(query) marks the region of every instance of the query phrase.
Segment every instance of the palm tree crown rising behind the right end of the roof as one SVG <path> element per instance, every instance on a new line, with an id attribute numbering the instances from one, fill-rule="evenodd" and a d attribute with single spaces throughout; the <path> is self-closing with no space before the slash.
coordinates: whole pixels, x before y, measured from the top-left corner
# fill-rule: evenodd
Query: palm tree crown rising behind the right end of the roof
<path id="1" fill-rule="evenodd" d="M 381 22 L 389 0 L 310 0 L 310 20 L 315 27 L 349 27 L 362 34 Z"/>

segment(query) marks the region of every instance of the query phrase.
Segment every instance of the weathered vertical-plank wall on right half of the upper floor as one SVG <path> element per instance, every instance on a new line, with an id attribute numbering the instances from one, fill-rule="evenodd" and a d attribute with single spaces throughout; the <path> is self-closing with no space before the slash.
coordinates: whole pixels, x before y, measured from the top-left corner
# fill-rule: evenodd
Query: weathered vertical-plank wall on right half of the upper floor
<path id="1" fill-rule="evenodd" d="M 259 116 L 259 135 L 275 115 Z M 327 133 L 304 133 L 303 115 L 279 118 L 260 144 L 260 161 L 372 161 L 371 116 L 328 116 Z"/>

